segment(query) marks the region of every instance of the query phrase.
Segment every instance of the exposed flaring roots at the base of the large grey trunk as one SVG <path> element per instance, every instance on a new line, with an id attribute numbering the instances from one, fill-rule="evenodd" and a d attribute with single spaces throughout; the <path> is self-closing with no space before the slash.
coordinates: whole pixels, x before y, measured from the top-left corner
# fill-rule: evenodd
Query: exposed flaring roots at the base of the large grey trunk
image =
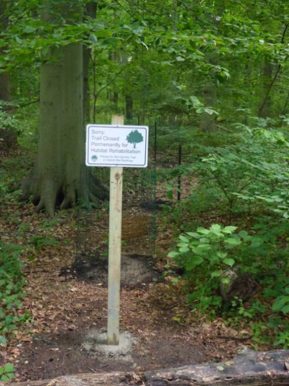
<path id="1" fill-rule="evenodd" d="M 39 176 L 37 174 L 37 171 L 33 169 L 21 186 L 21 199 L 27 201 L 32 197 L 31 200 L 36 206 L 37 213 L 46 210 L 48 215 L 52 217 L 57 206 L 60 209 L 67 209 L 75 205 L 79 199 L 85 200 L 84 197 L 81 197 L 81 192 L 85 189 L 83 186 L 80 187 L 80 184 L 85 183 L 84 181 L 70 181 L 69 176 L 51 178 L 47 175 Z M 91 173 L 88 173 L 87 186 L 87 199 L 94 207 L 99 208 L 102 201 L 109 198 L 108 187 Z"/>

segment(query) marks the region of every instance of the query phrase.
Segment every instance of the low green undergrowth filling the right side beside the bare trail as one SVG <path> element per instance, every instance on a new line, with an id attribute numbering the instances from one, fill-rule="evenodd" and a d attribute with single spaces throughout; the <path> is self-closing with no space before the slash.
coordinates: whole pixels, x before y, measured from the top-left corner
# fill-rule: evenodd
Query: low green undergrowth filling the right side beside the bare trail
<path id="1" fill-rule="evenodd" d="M 236 329 L 250 326 L 254 348 L 287 349 L 289 142 L 286 131 L 261 121 L 235 125 L 238 131 L 226 139 L 195 134 L 185 162 L 162 169 L 173 204 L 164 206 L 162 221 L 176 235 L 167 275 L 176 285 L 186 281 L 194 312 L 222 316 Z M 174 200 L 178 178 L 193 182 L 187 190 L 183 185 L 180 202 Z M 258 283 L 256 291 L 246 301 L 225 300 L 224 288 L 246 274 Z"/>

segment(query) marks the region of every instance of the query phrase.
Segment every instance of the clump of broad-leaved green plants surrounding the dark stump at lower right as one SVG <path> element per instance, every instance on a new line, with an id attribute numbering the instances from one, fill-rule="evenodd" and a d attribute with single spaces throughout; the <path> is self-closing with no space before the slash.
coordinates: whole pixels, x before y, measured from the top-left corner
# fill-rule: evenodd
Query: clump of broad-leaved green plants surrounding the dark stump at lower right
<path id="1" fill-rule="evenodd" d="M 210 228 L 198 227 L 195 232 L 180 235 L 178 248 L 168 256 L 185 271 L 189 303 L 210 316 L 222 306 L 218 288 L 221 283 L 230 284 L 232 268 L 238 274 L 253 274 L 263 287 L 261 300 L 245 306 L 242 299 L 235 298 L 223 316 L 235 326 L 240 320 L 248 320 L 253 340 L 258 344 L 273 340 L 275 346 L 287 348 L 288 323 L 276 316 L 266 325 L 258 322 L 258 318 L 260 315 L 264 318 L 264 314 L 269 312 L 264 303 L 266 299 L 272 299 L 272 312 L 276 315 L 289 312 L 288 251 L 280 246 L 276 248 L 279 237 L 286 234 L 288 224 L 286 221 L 276 226 L 271 224 L 270 229 L 264 221 L 254 228 L 254 233 L 249 235 L 244 230 L 237 233 L 235 226 L 214 224 Z M 257 321 L 250 322 L 253 320 Z"/>

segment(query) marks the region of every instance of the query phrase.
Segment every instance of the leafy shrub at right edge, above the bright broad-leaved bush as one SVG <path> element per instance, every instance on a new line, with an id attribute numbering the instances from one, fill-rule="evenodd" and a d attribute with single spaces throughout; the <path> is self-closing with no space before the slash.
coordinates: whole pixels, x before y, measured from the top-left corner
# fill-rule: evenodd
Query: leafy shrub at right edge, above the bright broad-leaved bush
<path id="1" fill-rule="evenodd" d="M 288 170 L 283 163 L 286 150 L 275 143 L 260 143 L 246 139 L 235 145 L 215 148 L 209 157 L 201 159 L 195 169 L 209 183 L 215 183 L 228 202 L 228 210 L 234 213 L 237 198 L 247 205 L 261 205 L 287 217 L 288 194 L 286 183 Z M 262 200 L 262 203 L 261 203 Z M 259 201 L 259 203 L 258 203 Z"/>

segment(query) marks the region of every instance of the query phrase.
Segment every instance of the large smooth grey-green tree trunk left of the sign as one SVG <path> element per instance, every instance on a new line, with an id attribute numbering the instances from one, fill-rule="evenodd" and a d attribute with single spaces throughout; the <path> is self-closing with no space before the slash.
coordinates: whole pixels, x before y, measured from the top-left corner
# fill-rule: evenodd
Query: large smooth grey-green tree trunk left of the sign
<path id="1" fill-rule="evenodd" d="M 70 1 L 69 10 L 64 6 L 62 15 L 69 17 L 78 3 Z M 51 21 L 53 16 L 44 12 L 42 17 Z M 23 182 L 22 198 L 32 195 L 36 210 L 46 209 L 53 216 L 57 204 L 67 208 L 83 195 L 97 204 L 108 197 L 108 191 L 100 181 L 90 182 L 84 172 L 83 47 L 73 43 L 49 48 L 47 59 L 40 70 L 38 154 Z M 85 176 L 82 181 L 81 175 Z"/>

